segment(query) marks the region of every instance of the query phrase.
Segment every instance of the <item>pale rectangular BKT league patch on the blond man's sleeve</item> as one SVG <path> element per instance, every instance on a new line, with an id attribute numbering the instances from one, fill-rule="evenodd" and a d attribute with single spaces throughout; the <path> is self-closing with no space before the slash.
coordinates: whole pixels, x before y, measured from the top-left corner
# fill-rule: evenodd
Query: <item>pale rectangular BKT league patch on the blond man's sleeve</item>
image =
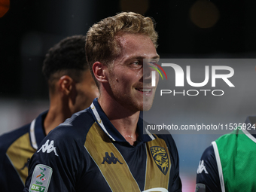
<path id="1" fill-rule="evenodd" d="M 42 164 L 35 166 L 31 183 L 29 185 L 29 192 L 47 192 L 52 173 L 53 169 L 50 166 Z"/>

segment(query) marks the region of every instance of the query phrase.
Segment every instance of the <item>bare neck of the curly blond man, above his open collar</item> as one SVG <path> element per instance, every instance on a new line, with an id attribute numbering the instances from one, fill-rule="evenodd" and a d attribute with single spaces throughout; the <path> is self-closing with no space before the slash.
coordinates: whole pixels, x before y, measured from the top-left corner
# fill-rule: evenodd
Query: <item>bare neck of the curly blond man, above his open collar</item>
<path id="1" fill-rule="evenodd" d="M 112 98 L 102 99 L 100 96 L 98 101 L 102 110 L 105 112 L 114 127 L 120 132 L 127 142 L 134 145 L 134 142 L 136 142 L 138 137 L 136 129 L 139 120 L 139 111 L 130 111 Z"/>

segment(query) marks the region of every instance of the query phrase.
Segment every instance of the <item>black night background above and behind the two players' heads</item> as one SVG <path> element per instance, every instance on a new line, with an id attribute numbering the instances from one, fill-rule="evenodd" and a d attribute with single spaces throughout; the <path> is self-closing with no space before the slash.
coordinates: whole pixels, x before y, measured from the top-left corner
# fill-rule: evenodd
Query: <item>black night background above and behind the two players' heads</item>
<path id="1" fill-rule="evenodd" d="M 193 12 L 196 2 L 201 5 Z M 120 11 L 154 18 L 160 56 L 255 58 L 255 8 L 255 1 L 240 0 L 11 0 L 0 18 L 0 96 L 47 99 L 41 75 L 47 50 L 66 36 L 85 35 L 93 23 Z M 201 26 L 192 21 L 192 12 Z M 207 26 L 216 17 L 215 25 Z"/>

